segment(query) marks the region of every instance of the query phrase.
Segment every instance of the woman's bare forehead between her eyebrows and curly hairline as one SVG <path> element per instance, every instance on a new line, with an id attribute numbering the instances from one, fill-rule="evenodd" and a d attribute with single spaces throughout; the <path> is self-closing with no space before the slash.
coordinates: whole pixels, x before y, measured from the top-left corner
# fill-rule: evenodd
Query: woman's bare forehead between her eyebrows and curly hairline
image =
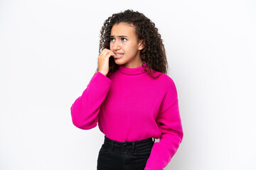
<path id="1" fill-rule="evenodd" d="M 127 36 L 135 36 L 135 29 L 129 23 L 115 23 L 111 29 L 111 36 L 118 36 L 118 35 L 127 35 Z"/>

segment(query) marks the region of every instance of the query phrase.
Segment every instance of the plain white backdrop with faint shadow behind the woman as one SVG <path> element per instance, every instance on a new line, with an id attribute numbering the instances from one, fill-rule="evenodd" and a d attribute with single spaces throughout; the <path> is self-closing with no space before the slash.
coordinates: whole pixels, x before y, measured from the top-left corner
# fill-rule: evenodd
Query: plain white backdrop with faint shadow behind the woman
<path id="1" fill-rule="evenodd" d="M 159 28 L 184 137 L 165 170 L 256 169 L 256 2 L 0 0 L 0 169 L 96 169 L 99 128 L 70 107 L 97 68 L 100 28 L 134 9 Z"/>

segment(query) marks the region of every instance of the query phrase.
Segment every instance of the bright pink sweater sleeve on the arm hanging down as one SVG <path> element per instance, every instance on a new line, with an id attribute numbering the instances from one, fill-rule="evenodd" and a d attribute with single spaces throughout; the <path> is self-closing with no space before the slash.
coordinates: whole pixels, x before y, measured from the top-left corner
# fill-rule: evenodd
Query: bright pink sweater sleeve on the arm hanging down
<path id="1" fill-rule="evenodd" d="M 161 130 L 159 142 L 155 142 L 145 170 L 163 170 L 174 157 L 182 139 L 183 129 L 178 111 L 178 96 L 172 79 L 168 81 L 168 91 L 159 109 L 156 123 Z"/>

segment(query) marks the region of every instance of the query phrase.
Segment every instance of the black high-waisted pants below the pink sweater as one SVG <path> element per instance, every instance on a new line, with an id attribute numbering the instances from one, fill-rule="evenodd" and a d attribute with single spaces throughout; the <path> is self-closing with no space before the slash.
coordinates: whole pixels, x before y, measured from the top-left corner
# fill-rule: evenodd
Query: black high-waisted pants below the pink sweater
<path id="1" fill-rule="evenodd" d="M 135 142 L 117 142 L 105 136 L 97 170 L 144 170 L 154 145 L 154 138 Z"/>

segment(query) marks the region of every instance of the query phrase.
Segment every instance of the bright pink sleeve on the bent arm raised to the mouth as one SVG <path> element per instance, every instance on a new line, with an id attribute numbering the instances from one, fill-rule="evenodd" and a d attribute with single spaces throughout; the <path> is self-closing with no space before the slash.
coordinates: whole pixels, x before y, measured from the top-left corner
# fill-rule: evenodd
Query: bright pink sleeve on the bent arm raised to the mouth
<path id="1" fill-rule="evenodd" d="M 112 80 L 96 72 L 82 96 L 70 108 L 73 124 L 83 130 L 95 128 L 100 106 L 107 96 Z"/>

